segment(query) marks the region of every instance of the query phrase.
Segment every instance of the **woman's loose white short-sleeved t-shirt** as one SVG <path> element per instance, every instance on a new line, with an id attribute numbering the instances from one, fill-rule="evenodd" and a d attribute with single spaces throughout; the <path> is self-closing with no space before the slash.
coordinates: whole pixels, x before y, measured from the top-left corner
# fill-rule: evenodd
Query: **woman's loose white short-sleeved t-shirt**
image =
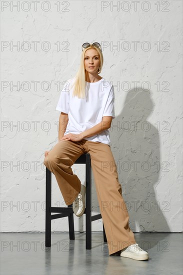
<path id="1" fill-rule="evenodd" d="M 102 116 L 112 116 L 114 114 L 114 88 L 113 85 L 101 78 L 99 81 L 86 82 L 85 98 L 72 97 L 73 88 L 71 85 L 75 77 L 65 81 L 61 90 L 56 110 L 68 113 L 68 123 L 63 135 L 68 133 L 78 134 L 97 123 L 101 122 Z M 108 129 L 100 133 L 84 137 L 90 141 L 99 141 L 109 145 L 110 136 Z"/>

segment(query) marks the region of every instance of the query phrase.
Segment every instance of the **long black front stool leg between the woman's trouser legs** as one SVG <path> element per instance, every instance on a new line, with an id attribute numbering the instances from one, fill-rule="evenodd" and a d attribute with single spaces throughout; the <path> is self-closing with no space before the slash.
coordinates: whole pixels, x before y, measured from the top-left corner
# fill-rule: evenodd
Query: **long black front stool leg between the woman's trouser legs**
<path id="1" fill-rule="evenodd" d="M 90 155 L 86 155 L 86 249 L 91 249 L 91 163 Z"/>

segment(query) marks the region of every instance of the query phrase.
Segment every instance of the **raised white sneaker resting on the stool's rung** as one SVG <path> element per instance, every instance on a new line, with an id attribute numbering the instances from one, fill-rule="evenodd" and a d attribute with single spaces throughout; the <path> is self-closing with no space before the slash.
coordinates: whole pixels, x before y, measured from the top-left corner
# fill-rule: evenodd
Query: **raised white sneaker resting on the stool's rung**
<path id="1" fill-rule="evenodd" d="M 72 202 L 72 209 L 76 216 L 81 216 L 85 210 L 85 202 L 84 202 L 85 188 L 86 187 L 83 184 L 81 184 L 80 193 L 78 193 L 78 195 Z"/>

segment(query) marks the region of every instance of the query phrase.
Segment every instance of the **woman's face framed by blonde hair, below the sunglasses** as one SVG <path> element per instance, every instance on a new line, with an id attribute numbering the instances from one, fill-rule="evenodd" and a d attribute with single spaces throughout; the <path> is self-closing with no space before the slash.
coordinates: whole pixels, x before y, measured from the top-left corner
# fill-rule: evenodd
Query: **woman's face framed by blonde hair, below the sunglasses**
<path id="1" fill-rule="evenodd" d="M 100 56 L 96 49 L 89 48 L 84 53 L 84 66 L 87 72 L 97 73 L 100 66 Z"/>

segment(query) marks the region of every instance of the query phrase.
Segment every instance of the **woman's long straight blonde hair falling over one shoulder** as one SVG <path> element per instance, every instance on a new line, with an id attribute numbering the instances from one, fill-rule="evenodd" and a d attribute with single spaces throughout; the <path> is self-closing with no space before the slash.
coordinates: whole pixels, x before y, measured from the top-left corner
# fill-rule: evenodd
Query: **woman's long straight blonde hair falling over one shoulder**
<path id="1" fill-rule="evenodd" d="M 95 49 L 98 52 L 99 56 L 100 56 L 100 66 L 98 68 L 98 73 L 101 72 L 101 68 L 102 68 L 102 65 L 103 65 L 103 54 L 102 54 L 99 47 L 95 47 L 95 46 L 90 45 L 89 47 L 84 48 L 84 50 L 81 53 L 79 69 L 78 69 L 78 71 L 77 71 L 77 73 L 74 77 L 75 81 L 72 83 L 72 86 L 71 86 L 71 88 L 72 88 L 73 85 L 74 85 L 72 96 L 77 96 L 78 98 L 85 98 L 85 85 L 86 85 L 86 83 L 85 83 L 84 53 L 87 49 L 90 49 L 90 48 Z"/>

